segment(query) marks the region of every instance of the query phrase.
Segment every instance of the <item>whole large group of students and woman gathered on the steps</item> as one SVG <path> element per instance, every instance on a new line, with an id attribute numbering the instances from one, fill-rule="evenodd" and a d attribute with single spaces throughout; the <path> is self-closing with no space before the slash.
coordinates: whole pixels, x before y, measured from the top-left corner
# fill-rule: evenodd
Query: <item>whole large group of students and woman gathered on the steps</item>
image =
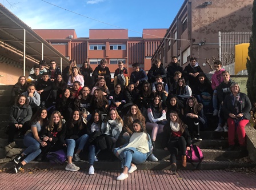
<path id="1" fill-rule="evenodd" d="M 119 62 L 113 92 L 109 91 L 111 75 L 105 59 L 94 71 L 87 62 L 78 68 L 75 60 L 62 73 L 54 61 L 50 64 L 45 72 L 42 61 L 34 67 L 30 84 L 21 76 L 12 91 L 16 99 L 11 107 L 9 142 L 18 133 L 27 147 L 14 159 L 16 173 L 35 158 L 45 160 L 47 152 L 65 149 L 67 171 L 78 171 L 73 161 L 81 160 L 81 151 L 89 151 L 89 174 L 93 175 L 98 153 L 107 150 L 122 160 L 123 172 L 117 179 L 123 180 L 137 169 L 135 164 L 147 157 L 158 161 L 153 148 L 158 134 L 162 134 L 162 146 L 171 153 L 171 172 L 175 174 L 178 151 L 182 166 L 186 167 L 186 150 L 191 140 L 202 140 L 204 111 L 211 107 L 213 115 L 224 113 L 220 114 L 215 131 L 225 130 L 225 120 L 229 124 L 229 149 L 234 148 L 236 132 L 239 144 L 245 148 L 244 127 L 250 119 L 250 100 L 219 61 L 214 62 L 212 83 L 195 58 L 182 70 L 174 56 L 167 72 L 156 60 L 147 75 L 134 63 L 129 83 L 127 69 Z M 151 131 L 151 136 L 146 130 Z"/>

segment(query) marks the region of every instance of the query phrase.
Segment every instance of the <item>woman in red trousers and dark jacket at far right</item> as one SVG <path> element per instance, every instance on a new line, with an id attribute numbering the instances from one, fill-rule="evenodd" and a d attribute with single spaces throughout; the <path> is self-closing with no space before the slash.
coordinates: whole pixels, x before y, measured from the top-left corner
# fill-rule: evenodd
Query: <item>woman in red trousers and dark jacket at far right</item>
<path id="1" fill-rule="evenodd" d="M 223 111 L 227 124 L 229 125 L 229 151 L 234 149 L 235 134 L 238 136 L 239 145 L 242 151 L 246 149 L 245 126 L 249 123 L 251 115 L 251 102 L 246 94 L 240 92 L 238 83 L 230 86 L 230 95 L 223 101 Z"/>

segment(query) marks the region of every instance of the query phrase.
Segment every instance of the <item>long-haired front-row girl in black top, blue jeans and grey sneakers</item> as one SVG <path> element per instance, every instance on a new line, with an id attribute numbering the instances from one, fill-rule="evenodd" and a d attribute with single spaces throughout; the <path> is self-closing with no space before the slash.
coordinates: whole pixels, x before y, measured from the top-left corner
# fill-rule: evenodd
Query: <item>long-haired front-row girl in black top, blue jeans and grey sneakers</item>
<path id="1" fill-rule="evenodd" d="M 75 167 L 75 165 L 72 164 L 72 160 L 81 161 L 79 153 L 83 150 L 83 147 L 85 147 L 90 133 L 89 128 L 82 120 L 79 110 L 73 111 L 70 120 L 66 123 L 65 130 L 66 143 L 64 146 L 67 147 L 67 166 L 65 169 L 67 171 L 75 172 L 78 171 L 79 167 Z M 76 151 L 75 147 L 77 147 Z"/>

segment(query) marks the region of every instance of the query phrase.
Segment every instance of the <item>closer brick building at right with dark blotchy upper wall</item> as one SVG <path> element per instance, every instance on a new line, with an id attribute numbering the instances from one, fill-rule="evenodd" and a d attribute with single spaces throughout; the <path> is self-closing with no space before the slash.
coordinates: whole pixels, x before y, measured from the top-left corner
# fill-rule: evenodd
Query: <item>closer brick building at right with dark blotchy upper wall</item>
<path id="1" fill-rule="evenodd" d="M 193 56 L 205 72 L 211 71 L 203 63 L 218 58 L 218 31 L 251 31 L 252 8 L 253 0 L 185 0 L 152 59 L 168 64 L 175 55 L 185 67 Z"/>

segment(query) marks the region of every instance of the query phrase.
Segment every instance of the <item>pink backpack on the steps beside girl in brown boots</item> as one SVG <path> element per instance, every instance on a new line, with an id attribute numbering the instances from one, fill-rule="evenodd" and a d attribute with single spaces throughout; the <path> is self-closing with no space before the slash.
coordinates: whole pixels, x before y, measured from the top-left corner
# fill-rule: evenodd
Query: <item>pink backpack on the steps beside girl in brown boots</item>
<path id="1" fill-rule="evenodd" d="M 190 145 L 190 150 L 186 151 L 187 161 L 189 161 L 191 164 L 194 165 L 194 169 L 197 169 L 198 165 L 203 161 L 203 152 L 201 149 L 194 144 Z M 193 162 L 198 162 L 197 165 L 195 165 Z"/>

